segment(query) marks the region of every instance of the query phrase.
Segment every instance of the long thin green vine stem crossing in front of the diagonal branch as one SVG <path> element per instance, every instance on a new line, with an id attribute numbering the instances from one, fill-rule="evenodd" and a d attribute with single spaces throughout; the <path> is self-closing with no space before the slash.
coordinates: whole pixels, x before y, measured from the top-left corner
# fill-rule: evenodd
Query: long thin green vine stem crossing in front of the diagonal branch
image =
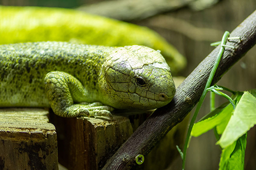
<path id="1" fill-rule="evenodd" d="M 203 104 L 203 101 L 204 101 L 204 99 L 206 97 L 206 94 L 208 92 L 207 88 L 209 88 L 210 84 L 212 83 L 213 76 L 216 73 L 218 64 L 220 63 L 220 59 L 221 59 L 221 57 L 222 57 L 222 55 L 224 53 L 224 50 L 225 50 L 224 45 L 226 44 L 226 41 L 228 40 L 228 37 L 229 37 L 229 32 L 226 31 L 224 33 L 223 37 L 222 37 L 222 40 L 221 40 L 220 52 L 218 53 L 218 56 L 217 56 L 217 59 L 216 59 L 214 65 L 213 65 L 212 71 L 210 71 L 210 75 L 209 75 L 209 78 L 208 78 L 207 83 L 205 85 L 203 94 L 200 97 L 199 103 L 197 104 L 197 107 L 196 107 L 196 111 L 193 114 L 191 122 L 190 122 L 190 124 L 188 126 L 188 133 L 187 133 L 187 137 L 185 139 L 185 145 L 184 145 L 184 149 L 183 149 L 182 169 L 185 169 L 185 160 L 186 160 L 186 155 L 187 155 L 187 148 L 188 148 L 188 145 L 189 145 L 189 138 L 191 136 L 191 131 L 192 131 L 193 125 L 195 124 L 197 114 L 199 113 L 199 110 L 200 110 L 200 108 L 201 108 L 201 106 Z"/>

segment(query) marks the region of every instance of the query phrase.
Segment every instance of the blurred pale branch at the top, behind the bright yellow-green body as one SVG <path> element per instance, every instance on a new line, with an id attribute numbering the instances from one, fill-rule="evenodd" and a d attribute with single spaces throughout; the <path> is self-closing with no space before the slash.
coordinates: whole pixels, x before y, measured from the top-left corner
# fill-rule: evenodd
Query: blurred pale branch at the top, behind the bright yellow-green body
<path id="1" fill-rule="evenodd" d="M 84 5 L 77 10 L 114 18 L 118 20 L 139 20 L 154 16 L 160 12 L 172 11 L 187 6 L 195 0 L 131 0 L 102 1 L 92 5 Z"/>

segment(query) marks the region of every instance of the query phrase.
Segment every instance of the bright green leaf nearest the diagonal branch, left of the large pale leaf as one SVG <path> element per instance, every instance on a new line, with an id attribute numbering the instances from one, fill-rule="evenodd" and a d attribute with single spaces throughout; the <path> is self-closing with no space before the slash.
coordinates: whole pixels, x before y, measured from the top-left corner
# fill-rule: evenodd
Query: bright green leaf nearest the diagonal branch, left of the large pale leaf
<path id="1" fill-rule="evenodd" d="M 193 126 L 191 135 L 193 137 L 198 137 L 210 129 L 213 129 L 215 126 L 218 128 L 222 124 L 226 125 L 232 115 L 232 111 L 233 107 L 231 104 L 222 104 L 220 107 L 207 114 L 201 121 L 197 122 Z"/>

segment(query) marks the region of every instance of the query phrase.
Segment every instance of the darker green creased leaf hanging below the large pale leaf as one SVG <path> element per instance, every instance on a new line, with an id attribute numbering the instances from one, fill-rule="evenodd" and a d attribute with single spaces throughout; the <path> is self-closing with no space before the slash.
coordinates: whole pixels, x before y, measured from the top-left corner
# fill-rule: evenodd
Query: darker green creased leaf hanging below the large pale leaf
<path id="1" fill-rule="evenodd" d="M 245 166 L 246 135 L 222 150 L 219 170 L 241 170 Z"/>

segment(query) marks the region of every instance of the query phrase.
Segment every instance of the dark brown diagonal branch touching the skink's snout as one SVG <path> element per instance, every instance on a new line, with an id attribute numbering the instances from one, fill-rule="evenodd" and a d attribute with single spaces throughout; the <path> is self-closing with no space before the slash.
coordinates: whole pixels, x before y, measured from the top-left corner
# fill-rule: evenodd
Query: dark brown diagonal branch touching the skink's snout
<path id="1" fill-rule="evenodd" d="M 225 48 L 224 55 L 214 76 L 213 84 L 218 82 L 221 76 L 255 45 L 256 11 L 230 34 L 230 37 L 238 36 L 241 37 L 241 42 L 239 40 L 227 42 L 227 45 L 236 46 L 236 50 Z M 130 169 L 136 164 L 135 156 L 138 154 L 147 155 L 169 130 L 184 119 L 199 101 L 219 50 L 220 46 L 214 49 L 193 70 L 177 88 L 174 100 L 151 114 L 108 160 L 103 169 Z"/>

